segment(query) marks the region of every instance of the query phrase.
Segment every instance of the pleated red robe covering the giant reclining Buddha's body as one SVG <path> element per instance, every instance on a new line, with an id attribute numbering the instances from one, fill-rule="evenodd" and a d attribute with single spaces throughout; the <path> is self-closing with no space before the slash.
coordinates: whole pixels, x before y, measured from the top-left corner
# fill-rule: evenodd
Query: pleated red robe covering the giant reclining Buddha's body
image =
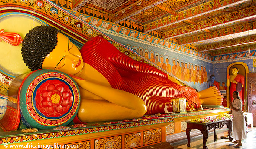
<path id="1" fill-rule="evenodd" d="M 165 105 L 172 109 L 174 98 L 185 97 L 196 108 L 201 105 L 195 89 L 172 82 L 166 73 L 131 59 L 102 37 L 88 40 L 80 52 L 83 61 L 98 70 L 113 88 L 140 97 L 148 107 L 146 115 L 164 113 Z"/>

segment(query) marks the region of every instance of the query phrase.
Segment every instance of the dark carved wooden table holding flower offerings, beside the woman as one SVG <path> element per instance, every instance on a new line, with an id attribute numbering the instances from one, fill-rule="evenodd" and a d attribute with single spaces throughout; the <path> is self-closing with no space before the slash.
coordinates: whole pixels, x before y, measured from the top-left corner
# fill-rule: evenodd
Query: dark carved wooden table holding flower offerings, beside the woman
<path id="1" fill-rule="evenodd" d="M 212 128 L 214 129 L 214 139 L 217 139 L 215 129 L 220 129 L 220 128 L 223 128 L 224 125 L 227 125 L 227 128 L 229 129 L 229 140 L 230 141 L 233 140 L 233 138 L 230 136 L 232 131 L 232 119 L 220 120 L 220 121 L 211 122 L 211 123 L 196 123 L 196 122 L 190 122 L 190 121 L 186 121 L 186 123 L 187 123 L 186 134 L 188 139 L 188 144 L 187 144 L 188 147 L 190 147 L 190 131 L 192 129 L 198 129 L 203 134 L 203 149 L 208 149 L 208 147 L 206 146 L 206 142 L 208 139 L 208 130 Z"/>

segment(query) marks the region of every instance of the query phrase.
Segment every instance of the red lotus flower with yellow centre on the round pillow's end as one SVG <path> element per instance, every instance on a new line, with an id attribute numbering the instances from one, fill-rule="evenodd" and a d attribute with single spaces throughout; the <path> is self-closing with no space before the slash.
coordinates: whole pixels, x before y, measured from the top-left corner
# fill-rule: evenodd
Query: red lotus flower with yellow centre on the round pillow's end
<path id="1" fill-rule="evenodd" d="M 36 107 L 47 117 L 59 117 L 72 106 L 73 96 L 69 87 L 59 80 L 47 80 L 36 91 Z"/>

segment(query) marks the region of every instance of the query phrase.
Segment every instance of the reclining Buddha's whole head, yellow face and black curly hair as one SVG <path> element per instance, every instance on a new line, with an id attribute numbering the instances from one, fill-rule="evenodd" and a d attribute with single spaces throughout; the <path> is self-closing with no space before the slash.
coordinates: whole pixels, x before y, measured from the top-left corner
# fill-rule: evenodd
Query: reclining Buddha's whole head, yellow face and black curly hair
<path id="1" fill-rule="evenodd" d="M 83 68 L 78 48 L 59 29 L 37 26 L 26 34 L 22 57 L 29 69 L 55 69 L 76 74 Z"/>

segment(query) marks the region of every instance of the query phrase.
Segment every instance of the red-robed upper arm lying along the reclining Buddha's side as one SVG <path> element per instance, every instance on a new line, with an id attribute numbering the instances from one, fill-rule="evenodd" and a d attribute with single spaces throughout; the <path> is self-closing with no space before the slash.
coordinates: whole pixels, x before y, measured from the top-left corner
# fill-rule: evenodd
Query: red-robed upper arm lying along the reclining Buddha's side
<path id="1" fill-rule="evenodd" d="M 133 60 L 102 37 L 93 37 L 85 43 L 82 49 L 85 49 L 86 55 L 89 56 L 93 53 L 100 53 L 101 59 L 106 60 L 105 63 L 109 63 L 108 65 L 114 66 L 116 69 L 129 73 L 150 73 L 167 78 L 166 73 L 149 64 Z"/>

